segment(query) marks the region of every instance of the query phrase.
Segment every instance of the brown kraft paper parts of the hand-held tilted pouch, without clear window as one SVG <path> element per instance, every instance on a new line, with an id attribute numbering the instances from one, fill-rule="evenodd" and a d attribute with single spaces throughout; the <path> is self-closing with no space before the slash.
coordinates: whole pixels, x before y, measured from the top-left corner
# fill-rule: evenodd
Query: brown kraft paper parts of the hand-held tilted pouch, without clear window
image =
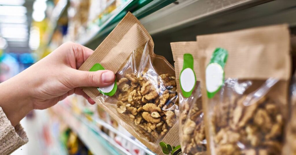
<path id="1" fill-rule="evenodd" d="M 146 48 L 145 48 L 146 47 Z M 144 49 L 145 48 L 145 49 Z M 129 61 L 133 61 L 136 64 L 135 68 L 139 66 L 139 60 L 137 57 L 137 50 L 148 51 L 148 59 L 153 66 L 153 70 L 158 74 L 170 73 L 174 76 L 174 68 L 165 60 L 164 57 L 155 55 L 153 52 L 154 43 L 147 32 L 147 30 L 141 25 L 139 20 L 136 19 L 130 12 L 123 18 L 122 21 L 115 27 L 115 29 L 107 36 L 107 38 L 96 48 L 94 53 L 83 63 L 79 70 L 89 71 L 89 69 L 95 64 L 100 63 L 105 69 L 111 70 L 115 73 L 120 68 L 124 68 L 124 64 Z M 143 56 L 142 56 L 143 59 Z M 146 59 L 145 59 L 146 60 Z M 132 63 L 132 64 L 133 64 Z M 130 70 L 130 68 L 127 68 Z M 116 78 L 120 78 L 116 74 Z M 114 98 L 107 98 L 102 102 L 103 95 L 99 94 L 99 91 L 95 87 L 84 87 L 83 91 L 86 92 L 100 107 L 102 107 L 110 116 L 112 116 L 120 125 L 122 125 L 128 132 L 130 132 L 141 143 L 154 151 L 156 154 L 161 154 L 162 150 L 159 146 L 159 141 L 148 142 L 143 135 L 137 130 L 139 127 L 125 121 L 125 117 L 122 114 L 118 114 L 116 111 L 116 100 Z M 109 100 L 110 99 L 110 100 Z M 162 141 L 172 146 L 179 145 L 178 140 L 178 122 L 171 127 Z"/>

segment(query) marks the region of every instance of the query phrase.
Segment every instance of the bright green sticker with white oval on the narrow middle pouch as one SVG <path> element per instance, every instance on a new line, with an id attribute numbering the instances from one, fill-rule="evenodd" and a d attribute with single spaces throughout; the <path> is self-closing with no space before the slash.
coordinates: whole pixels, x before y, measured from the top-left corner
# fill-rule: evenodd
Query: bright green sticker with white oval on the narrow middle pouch
<path id="1" fill-rule="evenodd" d="M 193 70 L 193 56 L 191 54 L 184 54 L 183 69 L 180 73 L 180 87 L 185 98 L 190 97 L 195 84 L 196 76 Z"/>

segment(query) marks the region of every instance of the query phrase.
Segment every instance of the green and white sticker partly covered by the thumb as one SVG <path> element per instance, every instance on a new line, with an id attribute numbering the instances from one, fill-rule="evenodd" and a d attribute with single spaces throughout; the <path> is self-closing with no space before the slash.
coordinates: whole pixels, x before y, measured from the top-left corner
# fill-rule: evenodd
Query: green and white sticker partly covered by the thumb
<path id="1" fill-rule="evenodd" d="M 96 63 L 91 67 L 89 71 L 99 71 L 99 70 L 105 70 L 105 68 L 101 64 Z M 110 86 L 101 87 L 101 88 L 98 88 L 98 90 L 103 95 L 113 96 L 117 90 L 116 79 L 115 79 L 115 82 Z"/>

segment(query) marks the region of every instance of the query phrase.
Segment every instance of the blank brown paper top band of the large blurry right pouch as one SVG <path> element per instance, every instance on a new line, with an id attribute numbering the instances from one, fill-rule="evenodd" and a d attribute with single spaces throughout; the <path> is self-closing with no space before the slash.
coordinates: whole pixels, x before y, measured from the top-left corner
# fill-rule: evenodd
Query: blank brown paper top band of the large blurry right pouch
<path id="1" fill-rule="evenodd" d="M 215 48 L 227 49 L 229 56 L 224 68 L 225 78 L 274 77 L 287 80 L 291 69 L 290 40 L 287 36 L 289 29 L 284 24 L 197 36 L 197 44 L 198 49 L 205 53 L 206 62 L 210 61 Z"/>

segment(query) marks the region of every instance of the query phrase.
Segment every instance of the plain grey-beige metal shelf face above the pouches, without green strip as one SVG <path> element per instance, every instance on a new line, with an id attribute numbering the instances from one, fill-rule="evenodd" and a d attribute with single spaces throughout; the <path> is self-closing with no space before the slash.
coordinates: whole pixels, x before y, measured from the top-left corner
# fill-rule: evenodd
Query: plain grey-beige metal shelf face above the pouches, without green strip
<path id="1" fill-rule="evenodd" d="M 179 0 L 141 19 L 151 35 L 176 27 L 184 27 L 214 15 L 256 6 L 271 0 Z"/>

